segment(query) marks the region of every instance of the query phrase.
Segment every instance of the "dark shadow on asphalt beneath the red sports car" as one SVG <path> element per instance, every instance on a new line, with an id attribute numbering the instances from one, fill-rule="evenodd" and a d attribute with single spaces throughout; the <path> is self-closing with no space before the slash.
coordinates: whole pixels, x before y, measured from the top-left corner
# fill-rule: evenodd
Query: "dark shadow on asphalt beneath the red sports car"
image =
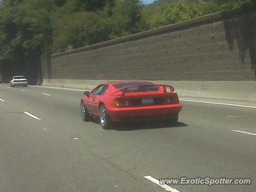
<path id="1" fill-rule="evenodd" d="M 94 118 L 92 122 L 100 125 L 100 121 L 97 118 Z M 162 120 L 150 120 L 150 121 L 141 121 L 141 122 L 116 123 L 113 125 L 113 129 L 117 131 L 133 131 L 133 130 L 144 130 L 144 129 L 186 127 L 186 126 L 188 125 L 182 122 L 166 125 L 166 123 Z"/>

